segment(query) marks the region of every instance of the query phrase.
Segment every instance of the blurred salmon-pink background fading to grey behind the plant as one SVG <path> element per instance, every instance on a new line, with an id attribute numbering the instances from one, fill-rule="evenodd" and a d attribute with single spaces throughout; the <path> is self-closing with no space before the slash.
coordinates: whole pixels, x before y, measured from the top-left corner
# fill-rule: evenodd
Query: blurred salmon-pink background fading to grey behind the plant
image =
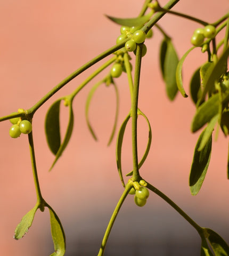
<path id="1" fill-rule="evenodd" d="M 162 5 L 166 2 L 160 1 Z M 30 108 L 72 71 L 112 46 L 119 35 L 119 26 L 103 14 L 135 17 L 142 4 L 143 1 L 130 0 L 0 1 L 0 116 L 18 108 Z M 186 0 L 180 1 L 174 10 L 214 22 L 228 11 L 228 6 L 227 0 Z M 191 47 L 192 32 L 199 27 L 198 23 L 173 15 L 162 18 L 159 24 L 173 37 L 179 57 Z M 161 40 L 162 35 L 154 29 L 153 38 L 146 42 L 148 54 L 142 63 L 139 106 L 150 120 L 153 138 L 141 175 L 173 199 L 200 226 L 214 229 L 229 242 L 228 140 L 220 132 L 218 141 L 212 145 L 211 162 L 202 189 L 197 196 L 191 196 L 189 171 L 199 135 L 190 132 L 195 107 L 190 97 L 184 99 L 180 94 L 174 102 L 167 99 L 158 68 Z M 197 49 L 185 60 L 183 76 L 187 92 L 193 71 L 207 58 L 206 54 L 200 56 L 199 53 L 200 49 Z M 37 111 L 33 121 L 40 187 L 66 231 L 66 255 L 96 255 L 123 191 L 116 168 L 116 141 L 107 147 L 114 119 L 112 87 L 101 86 L 92 100 L 89 114 L 98 142 L 93 140 L 86 126 L 85 101 L 97 79 L 76 97 L 72 138 L 52 172 L 48 172 L 54 156 L 45 139 L 46 111 L 55 99 L 75 90 L 91 71 L 87 70 L 56 93 Z M 125 74 L 117 79 L 117 85 L 120 126 L 130 108 Z M 64 113 L 67 114 L 62 108 L 63 134 L 68 122 Z M 141 156 L 148 130 L 141 118 L 139 121 Z M 50 255 L 53 245 L 47 210 L 43 213 L 37 211 L 25 237 L 20 241 L 13 239 L 15 227 L 36 204 L 36 193 L 27 136 L 10 138 L 10 126 L 9 121 L 1 123 L 1 254 Z M 128 173 L 132 169 L 130 132 L 125 135 L 123 152 L 123 170 Z M 181 252 L 179 255 L 188 255 L 186 250 L 190 248 L 193 249 L 190 255 L 199 255 L 200 238 L 178 213 L 151 193 L 148 203 L 142 208 L 134 204 L 133 197 L 127 198 L 114 224 L 105 255 L 174 255 L 176 247 Z"/>

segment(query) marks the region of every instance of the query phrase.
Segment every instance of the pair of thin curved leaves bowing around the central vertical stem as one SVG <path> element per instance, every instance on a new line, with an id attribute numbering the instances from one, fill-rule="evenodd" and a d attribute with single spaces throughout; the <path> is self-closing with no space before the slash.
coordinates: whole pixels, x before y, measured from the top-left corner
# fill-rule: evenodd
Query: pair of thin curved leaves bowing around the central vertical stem
<path id="1" fill-rule="evenodd" d="M 143 154 L 143 157 L 142 157 L 141 161 L 138 163 L 138 169 L 140 169 L 141 166 L 143 165 L 143 163 L 145 162 L 145 159 L 148 156 L 149 151 L 150 151 L 150 146 L 151 146 L 151 141 L 152 141 L 152 130 L 151 130 L 149 119 L 143 114 L 143 112 L 140 109 L 137 110 L 137 114 L 141 115 L 145 118 L 145 121 L 148 124 L 148 128 L 149 128 L 148 143 L 147 143 L 147 146 L 146 146 L 146 149 L 145 149 L 145 153 Z M 119 133 L 118 133 L 118 136 L 117 136 L 117 143 L 116 143 L 117 168 L 118 168 L 118 173 L 119 173 L 120 180 L 121 180 L 122 185 L 124 187 L 125 187 L 125 183 L 124 183 L 124 179 L 123 179 L 123 175 L 122 175 L 122 167 L 121 167 L 121 148 L 122 148 L 122 141 L 123 141 L 123 138 L 124 138 L 124 133 L 125 133 L 125 130 L 126 130 L 126 125 L 129 121 L 130 117 L 131 117 L 131 113 L 129 113 L 127 115 L 124 122 L 121 124 L 121 127 L 119 129 Z M 133 174 L 133 171 L 126 174 L 126 176 L 130 176 L 132 174 Z"/>

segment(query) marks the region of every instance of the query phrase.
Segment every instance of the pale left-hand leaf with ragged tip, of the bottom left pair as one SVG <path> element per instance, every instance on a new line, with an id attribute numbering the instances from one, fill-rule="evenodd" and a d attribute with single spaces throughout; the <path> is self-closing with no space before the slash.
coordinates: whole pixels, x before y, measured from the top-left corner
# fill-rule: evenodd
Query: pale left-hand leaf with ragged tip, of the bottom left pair
<path id="1" fill-rule="evenodd" d="M 32 225 L 32 221 L 34 220 L 34 216 L 37 209 L 38 204 L 36 204 L 35 207 L 32 208 L 32 210 L 30 210 L 29 212 L 26 213 L 26 215 L 24 215 L 21 222 L 15 229 L 14 239 L 18 240 L 28 233 L 28 230 Z"/>

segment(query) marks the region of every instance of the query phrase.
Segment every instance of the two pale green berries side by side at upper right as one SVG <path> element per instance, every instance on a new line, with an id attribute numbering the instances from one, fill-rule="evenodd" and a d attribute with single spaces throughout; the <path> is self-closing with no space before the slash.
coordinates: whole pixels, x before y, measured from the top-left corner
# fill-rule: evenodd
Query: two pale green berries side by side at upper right
<path id="1" fill-rule="evenodd" d="M 204 28 L 195 29 L 191 43 L 194 46 L 201 46 L 205 38 L 212 39 L 216 36 L 216 28 L 212 25 L 207 25 Z"/>

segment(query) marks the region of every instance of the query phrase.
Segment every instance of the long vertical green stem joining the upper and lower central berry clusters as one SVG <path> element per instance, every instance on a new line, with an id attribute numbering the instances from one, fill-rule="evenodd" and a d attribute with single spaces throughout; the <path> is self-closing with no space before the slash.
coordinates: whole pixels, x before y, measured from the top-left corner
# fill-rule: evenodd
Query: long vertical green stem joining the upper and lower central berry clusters
<path id="1" fill-rule="evenodd" d="M 137 109 L 138 109 L 138 91 L 140 83 L 142 62 L 142 45 L 138 44 L 136 48 L 135 59 L 135 74 L 134 74 L 134 89 L 132 99 L 132 156 L 133 156 L 133 181 L 140 178 L 138 170 L 138 158 L 137 158 Z"/>

